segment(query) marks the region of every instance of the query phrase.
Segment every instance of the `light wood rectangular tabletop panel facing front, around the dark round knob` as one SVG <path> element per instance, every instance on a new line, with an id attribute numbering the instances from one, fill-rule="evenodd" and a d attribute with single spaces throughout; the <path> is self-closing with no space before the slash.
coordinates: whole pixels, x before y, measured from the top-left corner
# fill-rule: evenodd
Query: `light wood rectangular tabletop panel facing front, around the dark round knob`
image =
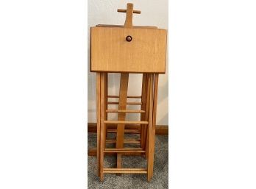
<path id="1" fill-rule="evenodd" d="M 91 71 L 163 74 L 166 30 L 92 27 L 90 63 Z"/>

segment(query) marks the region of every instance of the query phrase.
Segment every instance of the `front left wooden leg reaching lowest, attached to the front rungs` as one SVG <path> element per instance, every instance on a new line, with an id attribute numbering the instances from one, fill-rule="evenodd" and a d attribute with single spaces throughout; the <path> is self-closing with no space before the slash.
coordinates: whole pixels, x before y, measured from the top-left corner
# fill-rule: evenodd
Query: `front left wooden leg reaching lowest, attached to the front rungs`
<path id="1" fill-rule="evenodd" d="M 100 158 L 100 163 L 99 163 L 99 177 L 100 180 L 103 181 L 104 179 L 104 173 L 103 173 L 103 168 L 104 168 L 104 140 L 105 140 L 105 133 L 104 133 L 104 110 L 105 110 L 105 103 L 104 103 L 104 93 L 105 93 L 105 85 L 104 85 L 104 73 L 101 73 L 101 128 L 100 128 L 100 151 L 99 151 L 99 158 Z"/>

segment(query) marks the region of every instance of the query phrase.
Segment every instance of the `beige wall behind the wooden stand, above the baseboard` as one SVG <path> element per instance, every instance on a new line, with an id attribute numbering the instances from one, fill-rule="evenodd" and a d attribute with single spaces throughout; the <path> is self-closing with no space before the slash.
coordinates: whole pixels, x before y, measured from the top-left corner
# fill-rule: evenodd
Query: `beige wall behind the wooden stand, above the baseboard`
<path id="1" fill-rule="evenodd" d="M 90 26 L 96 24 L 124 24 L 125 13 L 118 13 L 118 8 L 125 9 L 128 1 L 88 1 L 88 47 L 90 48 Z M 141 10 L 141 15 L 133 16 L 134 25 L 157 26 L 168 29 L 168 0 L 129 1 L 135 10 Z M 96 74 L 90 73 L 90 49 L 88 49 L 88 122 L 96 122 Z M 167 57 L 168 60 L 168 57 Z M 130 74 L 129 95 L 140 95 L 141 74 Z M 109 94 L 118 94 L 120 74 L 110 74 Z M 113 99 L 114 100 L 114 99 Z M 132 100 L 131 100 L 132 101 Z M 133 100 L 134 101 L 134 100 Z M 129 107 L 132 109 L 134 106 Z M 138 107 L 137 107 L 138 108 Z M 110 114 L 110 118 L 116 115 Z M 130 114 L 129 120 L 138 119 L 138 115 Z M 166 74 L 159 79 L 159 95 L 157 107 L 157 124 L 168 125 L 168 63 Z"/>

